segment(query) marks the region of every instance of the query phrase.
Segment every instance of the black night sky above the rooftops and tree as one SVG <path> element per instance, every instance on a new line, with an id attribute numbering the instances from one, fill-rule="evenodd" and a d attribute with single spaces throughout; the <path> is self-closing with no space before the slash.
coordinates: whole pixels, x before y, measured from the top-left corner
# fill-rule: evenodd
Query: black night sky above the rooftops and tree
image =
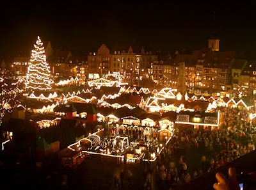
<path id="1" fill-rule="evenodd" d="M 0 58 L 31 51 L 37 35 L 49 40 L 54 49 L 65 47 L 72 52 L 132 42 L 173 51 L 201 49 L 216 31 L 220 51 L 256 51 L 253 1 L 52 2 L 2 6 Z"/>

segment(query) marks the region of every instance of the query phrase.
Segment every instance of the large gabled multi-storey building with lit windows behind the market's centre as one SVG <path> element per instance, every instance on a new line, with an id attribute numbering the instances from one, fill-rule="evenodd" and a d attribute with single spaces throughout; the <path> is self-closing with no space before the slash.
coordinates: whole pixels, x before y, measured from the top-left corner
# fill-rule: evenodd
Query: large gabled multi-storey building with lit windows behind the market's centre
<path id="1" fill-rule="evenodd" d="M 120 72 L 134 78 L 150 74 L 151 63 L 157 60 L 157 56 L 146 52 L 143 47 L 136 52 L 131 46 L 126 51 L 124 48 L 113 48 L 109 52 L 108 47 L 103 44 L 97 54 L 90 53 L 88 56 L 88 72 L 100 75 Z"/>

